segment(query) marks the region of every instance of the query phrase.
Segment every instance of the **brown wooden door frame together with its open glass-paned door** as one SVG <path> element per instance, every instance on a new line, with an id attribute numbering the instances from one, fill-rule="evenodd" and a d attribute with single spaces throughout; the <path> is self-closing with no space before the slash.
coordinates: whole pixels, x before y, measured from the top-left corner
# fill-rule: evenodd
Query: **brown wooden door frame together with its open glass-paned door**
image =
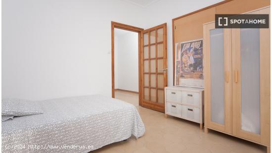
<path id="1" fill-rule="evenodd" d="M 167 87 L 167 25 L 141 29 L 111 22 L 112 98 L 115 98 L 115 28 L 138 33 L 138 105 L 165 111 Z M 129 81 L 131 83 L 131 81 Z M 118 88 L 118 87 L 117 87 Z"/>

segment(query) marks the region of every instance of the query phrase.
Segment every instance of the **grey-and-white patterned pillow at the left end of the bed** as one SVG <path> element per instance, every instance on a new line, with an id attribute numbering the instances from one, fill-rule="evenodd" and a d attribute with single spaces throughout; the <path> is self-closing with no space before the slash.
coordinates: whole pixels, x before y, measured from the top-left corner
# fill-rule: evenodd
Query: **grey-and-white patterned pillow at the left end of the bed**
<path id="1" fill-rule="evenodd" d="M 2 116 L 25 116 L 41 113 L 43 110 L 36 102 L 20 99 L 2 100 Z"/>

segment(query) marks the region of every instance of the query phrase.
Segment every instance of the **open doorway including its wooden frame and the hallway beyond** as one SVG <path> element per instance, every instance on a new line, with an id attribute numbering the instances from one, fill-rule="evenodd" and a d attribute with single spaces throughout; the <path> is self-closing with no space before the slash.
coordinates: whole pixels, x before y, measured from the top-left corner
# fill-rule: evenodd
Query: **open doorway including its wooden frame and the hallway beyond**
<path id="1" fill-rule="evenodd" d="M 143 29 L 111 23 L 112 97 L 141 105 L 140 41 Z"/>

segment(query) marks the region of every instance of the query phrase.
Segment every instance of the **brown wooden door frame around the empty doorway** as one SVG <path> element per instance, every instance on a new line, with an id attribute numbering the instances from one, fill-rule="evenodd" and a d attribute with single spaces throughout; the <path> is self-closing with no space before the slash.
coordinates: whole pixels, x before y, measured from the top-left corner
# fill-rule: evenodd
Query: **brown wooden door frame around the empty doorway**
<path id="1" fill-rule="evenodd" d="M 114 28 L 138 33 L 138 89 L 139 105 L 141 105 L 141 31 L 142 28 L 111 21 L 111 96 L 115 98 L 114 88 Z"/>

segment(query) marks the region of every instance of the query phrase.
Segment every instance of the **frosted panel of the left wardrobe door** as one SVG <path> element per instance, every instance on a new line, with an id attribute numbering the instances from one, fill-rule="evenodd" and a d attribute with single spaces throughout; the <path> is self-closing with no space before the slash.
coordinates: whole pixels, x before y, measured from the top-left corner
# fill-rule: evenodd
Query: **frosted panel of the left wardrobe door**
<path id="1" fill-rule="evenodd" d="M 210 30 L 211 120 L 224 124 L 224 39 L 223 29 Z"/>

